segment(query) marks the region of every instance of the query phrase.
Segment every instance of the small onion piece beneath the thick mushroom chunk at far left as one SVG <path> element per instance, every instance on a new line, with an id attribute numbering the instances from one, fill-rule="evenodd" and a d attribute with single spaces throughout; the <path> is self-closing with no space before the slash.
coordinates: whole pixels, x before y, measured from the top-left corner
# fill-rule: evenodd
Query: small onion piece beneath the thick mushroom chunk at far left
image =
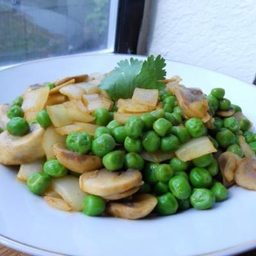
<path id="1" fill-rule="evenodd" d="M 22 181 L 27 181 L 31 174 L 42 172 L 44 162 L 44 159 L 38 159 L 29 164 L 21 164 L 17 178 Z"/>

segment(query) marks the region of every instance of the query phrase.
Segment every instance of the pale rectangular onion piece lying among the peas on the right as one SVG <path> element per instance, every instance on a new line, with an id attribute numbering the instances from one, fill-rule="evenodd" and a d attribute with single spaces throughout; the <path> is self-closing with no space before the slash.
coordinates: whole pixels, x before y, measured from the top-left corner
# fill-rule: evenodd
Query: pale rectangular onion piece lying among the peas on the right
<path id="1" fill-rule="evenodd" d="M 183 144 L 177 151 L 175 151 L 175 154 L 180 160 L 186 162 L 216 151 L 217 150 L 211 140 L 208 137 L 203 136 Z"/>

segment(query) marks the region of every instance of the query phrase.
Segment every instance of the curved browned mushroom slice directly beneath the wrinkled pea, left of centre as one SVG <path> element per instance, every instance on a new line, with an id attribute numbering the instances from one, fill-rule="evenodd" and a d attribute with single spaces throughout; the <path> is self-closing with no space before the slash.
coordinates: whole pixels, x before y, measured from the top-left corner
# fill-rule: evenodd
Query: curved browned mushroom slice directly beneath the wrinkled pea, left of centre
<path id="1" fill-rule="evenodd" d="M 78 154 L 68 150 L 61 144 L 54 144 L 53 151 L 58 161 L 73 172 L 90 172 L 103 166 L 100 157 Z"/>

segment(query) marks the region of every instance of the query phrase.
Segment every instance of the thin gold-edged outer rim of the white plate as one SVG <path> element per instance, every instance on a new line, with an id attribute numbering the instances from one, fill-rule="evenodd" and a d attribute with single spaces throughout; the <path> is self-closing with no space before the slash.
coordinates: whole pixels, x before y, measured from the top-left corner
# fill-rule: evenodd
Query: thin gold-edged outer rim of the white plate
<path id="1" fill-rule="evenodd" d="M 88 56 L 88 57 L 92 57 L 92 56 L 127 56 L 127 58 L 129 57 L 142 57 L 142 58 L 147 58 L 148 55 L 141 55 L 141 54 L 120 54 L 120 53 L 113 53 L 113 52 L 106 52 L 106 53 L 79 53 L 79 54 L 70 54 L 70 55 L 64 55 L 64 56 L 54 56 L 54 57 L 50 57 L 50 58 L 42 58 L 42 59 L 38 59 L 38 60 L 31 60 L 31 61 L 26 61 L 26 62 L 22 62 L 22 63 L 18 63 L 18 64 L 14 64 L 11 67 L 7 67 L 4 68 L 2 70 L 0 70 L 0 74 L 2 74 L 4 71 L 8 71 L 11 70 L 13 68 L 19 68 L 20 66 L 26 66 L 26 65 L 31 65 L 33 63 L 39 63 L 39 62 L 44 62 L 44 61 L 51 61 L 51 60 L 56 60 L 56 59 L 65 59 L 65 58 L 76 58 L 76 57 L 83 57 L 83 56 Z M 241 79 L 238 79 L 236 77 L 232 77 L 229 76 L 227 74 L 223 74 L 221 72 L 215 71 L 215 70 L 211 70 L 209 68 L 204 68 L 204 67 L 200 67 L 199 65 L 193 65 L 193 64 L 189 64 L 189 63 L 185 63 L 182 61 L 173 61 L 170 60 L 168 58 L 164 58 L 164 60 L 166 61 L 172 61 L 174 63 L 180 63 L 180 64 L 184 64 L 187 66 L 191 66 L 191 67 L 196 67 L 196 68 L 200 68 L 201 70 L 206 70 L 207 72 L 213 72 L 215 74 L 220 74 L 221 76 L 225 76 L 225 77 L 229 77 L 232 79 L 235 79 L 239 82 L 242 82 L 248 86 L 252 86 L 253 88 L 256 89 L 256 86 L 252 83 L 248 83 L 247 81 L 243 81 Z M 51 250 L 45 250 L 43 248 L 39 248 L 37 246 L 33 246 L 30 244 L 26 244 L 26 243 L 21 243 L 15 239 L 12 239 L 10 237 L 4 236 L 2 234 L 0 234 L 0 243 L 3 244 L 4 246 L 7 246 L 9 248 L 12 248 L 14 250 L 19 250 L 20 252 L 24 252 L 24 253 L 35 253 L 34 255 L 49 255 L 49 256 L 75 256 L 75 255 L 71 255 L 71 254 L 63 254 L 63 253 L 58 253 L 58 252 L 54 252 Z M 202 254 L 197 254 L 194 256 L 217 256 L 217 255 L 237 255 L 238 253 L 243 253 L 246 252 L 248 250 L 252 250 L 256 248 L 256 239 L 252 240 L 252 241 L 246 241 L 244 243 L 241 244 L 237 244 L 235 246 L 231 246 L 228 248 L 224 248 L 222 250 L 216 250 L 216 251 L 212 251 L 212 252 L 207 252 L 207 253 L 202 253 Z"/>

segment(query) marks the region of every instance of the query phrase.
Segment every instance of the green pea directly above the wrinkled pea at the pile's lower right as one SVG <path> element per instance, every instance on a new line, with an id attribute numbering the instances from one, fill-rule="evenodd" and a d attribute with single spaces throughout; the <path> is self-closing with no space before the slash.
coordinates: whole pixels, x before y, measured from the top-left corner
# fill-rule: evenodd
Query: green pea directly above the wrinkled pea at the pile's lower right
<path id="1" fill-rule="evenodd" d="M 189 180 L 194 188 L 207 188 L 212 183 L 212 176 L 205 168 L 195 167 L 189 173 Z"/>

